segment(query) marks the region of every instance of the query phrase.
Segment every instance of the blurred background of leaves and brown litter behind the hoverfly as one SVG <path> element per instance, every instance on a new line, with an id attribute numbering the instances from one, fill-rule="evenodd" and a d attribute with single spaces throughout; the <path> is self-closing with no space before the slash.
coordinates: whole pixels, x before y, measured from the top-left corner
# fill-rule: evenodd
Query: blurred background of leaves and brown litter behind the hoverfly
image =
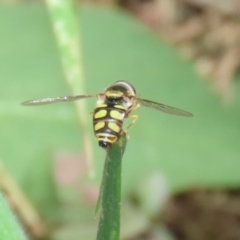
<path id="1" fill-rule="evenodd" d="M 95 239 L 105 152 L 91 116 L 94 178 L 72 103 L 20 105 L 72 94 L 46 5 L 0 3 L 0 173 L 47 226 L 19 214 L 32 239 Z M 76 10 L 86 93 L 124 79 L 138 96 L 194 114 L 137 110 L 123 159 L 122 239 L 240 239 L 240 2 L 88 0 Z M 95 101 L 87 100 L 89 113 Z"/>

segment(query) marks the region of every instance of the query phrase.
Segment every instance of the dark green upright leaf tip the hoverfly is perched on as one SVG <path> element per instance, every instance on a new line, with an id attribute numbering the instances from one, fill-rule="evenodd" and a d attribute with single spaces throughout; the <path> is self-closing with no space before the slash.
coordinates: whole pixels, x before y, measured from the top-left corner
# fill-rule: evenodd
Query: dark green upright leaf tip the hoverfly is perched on
<path id="1" fill-rule="evenodd" d="M 124 133 L 107 151 L 99 196 L 99 201 L 102 199 L 102 211 L 97 240 L 118 240 L 120 237 L 121 166 L 126 142 Z"/>

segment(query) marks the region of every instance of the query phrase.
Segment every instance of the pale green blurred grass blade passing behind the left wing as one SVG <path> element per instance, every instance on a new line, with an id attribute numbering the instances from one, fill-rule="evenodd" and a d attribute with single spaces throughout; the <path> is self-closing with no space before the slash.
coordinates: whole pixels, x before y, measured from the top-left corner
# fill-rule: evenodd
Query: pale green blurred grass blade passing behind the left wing
<path id="1" fill-rule="evenodd" d="M 60 50 L 63 71 L 73 95 L 85 94 L 84 67 L 81 51 L 81 31 L 73 0 L 45 0 L 52 18 L 56 40 Z M 84 140 L 84 152 L 90 174 L 92 168 L 92 146 L 88 134 L 88 114 L 85 101 L 76 101 L 76 110 Z"/>

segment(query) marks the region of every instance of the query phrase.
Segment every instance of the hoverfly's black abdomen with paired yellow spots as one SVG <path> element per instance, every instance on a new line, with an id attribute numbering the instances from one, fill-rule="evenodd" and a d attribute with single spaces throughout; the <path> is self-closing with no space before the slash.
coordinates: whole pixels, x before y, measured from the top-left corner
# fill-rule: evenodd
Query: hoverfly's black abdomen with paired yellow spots
<path id="1" fill-rule="evenodd" d="M 122 105 L 97 106 L 93 113 L 93 129 L 100 147 L 110 148 L 119 139 L 125 116 Z"/>

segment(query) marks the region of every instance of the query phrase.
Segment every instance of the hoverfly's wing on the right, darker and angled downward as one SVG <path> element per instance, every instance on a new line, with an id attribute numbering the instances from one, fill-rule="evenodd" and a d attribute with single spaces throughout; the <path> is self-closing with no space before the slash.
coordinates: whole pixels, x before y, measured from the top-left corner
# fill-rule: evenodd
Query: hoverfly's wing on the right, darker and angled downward
<path id="1" fill-rule="evenodd" d="M 192 117 L 193 114 L 191 114 L 190 112 L 178 109 L 178 108 L 174 108 L 174 107 L 170 107 L 167 105 L 164 105 L 162 103 L 157 103 L 157 102 L 153 102 L 150 100 L 146 100 L 146 99 L 141 99 L 141 98 L 137 98 L 137 101 L 140 105 L 145 106 L 145 107 L 151 107 L 154 108 L 156 110 L 168 113 L 168 114 L 172 114 L 172 115 L 177 115 L 177 116 L 184 116 L 184 117 Z"/>

